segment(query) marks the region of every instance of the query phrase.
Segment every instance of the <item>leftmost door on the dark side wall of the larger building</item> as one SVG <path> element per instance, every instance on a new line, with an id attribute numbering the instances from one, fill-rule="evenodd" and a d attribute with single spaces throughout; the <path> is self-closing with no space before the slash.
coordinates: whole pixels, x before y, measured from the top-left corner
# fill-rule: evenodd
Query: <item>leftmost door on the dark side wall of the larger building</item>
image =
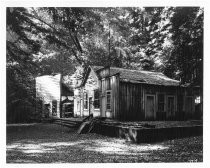
<path id="1" fill-rule="evenodd" d="M 146 96 L 146 119 L 155 118 L 155 96 L 147 95 Z"/>

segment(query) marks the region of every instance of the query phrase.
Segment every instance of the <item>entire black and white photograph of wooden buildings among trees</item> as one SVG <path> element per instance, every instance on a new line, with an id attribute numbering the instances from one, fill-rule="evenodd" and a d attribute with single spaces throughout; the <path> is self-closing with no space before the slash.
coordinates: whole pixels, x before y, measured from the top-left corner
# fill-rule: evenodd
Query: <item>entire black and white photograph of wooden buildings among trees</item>
<path id="1" fill-rule="evenodd" d="M 4 10 L 6 165 L 203 163 L 204 6 L 41 6 Z"/>

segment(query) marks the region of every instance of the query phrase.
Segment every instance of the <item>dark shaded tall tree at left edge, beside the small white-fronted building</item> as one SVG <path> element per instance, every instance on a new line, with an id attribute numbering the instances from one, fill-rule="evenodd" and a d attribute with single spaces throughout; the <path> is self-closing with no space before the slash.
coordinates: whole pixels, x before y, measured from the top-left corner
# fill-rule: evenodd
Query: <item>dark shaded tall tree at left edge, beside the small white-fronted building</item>
<path id="1" fill-rule="evenodd" d="M 7 121 L 13 120 L 15 111 L 24 113 L 28 107 L 33 107 L 35 65 L 32 54 L 40 48 L 39 41 L 32 38 L 38 33 L 34 27 L 37 28 L 25 8 L 7 8 Z"/>

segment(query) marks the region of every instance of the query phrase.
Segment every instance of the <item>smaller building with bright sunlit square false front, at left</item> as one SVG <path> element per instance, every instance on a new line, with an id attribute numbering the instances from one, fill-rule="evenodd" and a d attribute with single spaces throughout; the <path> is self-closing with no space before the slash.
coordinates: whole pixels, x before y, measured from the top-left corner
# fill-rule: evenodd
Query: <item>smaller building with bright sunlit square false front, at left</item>
<path id="1" fill-rule="evenodd" d="M 43 118 L 73 116 L 74 92 L 61 74 L 36 77 L 36 111 Z"/>

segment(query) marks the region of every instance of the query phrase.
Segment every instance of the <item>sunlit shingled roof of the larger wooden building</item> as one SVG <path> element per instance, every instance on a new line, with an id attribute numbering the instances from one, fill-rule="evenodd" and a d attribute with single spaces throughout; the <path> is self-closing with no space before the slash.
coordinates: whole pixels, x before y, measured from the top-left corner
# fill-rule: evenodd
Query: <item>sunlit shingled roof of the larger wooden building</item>
<path id="1" fill-rule="evenodd" d="M 93 66 L 95 72 L 103 69 L 102 66 Z M 163 86 L 179 86 L 180 82 L 171 79 L 161 72 L 143 71 L 143 70 L 130 70 L 124 68 L 110 67 L 110 76 L 114 74 L 120 75 L 120 80 L 131 83 L 146 83 L 153 85 Z"/>

